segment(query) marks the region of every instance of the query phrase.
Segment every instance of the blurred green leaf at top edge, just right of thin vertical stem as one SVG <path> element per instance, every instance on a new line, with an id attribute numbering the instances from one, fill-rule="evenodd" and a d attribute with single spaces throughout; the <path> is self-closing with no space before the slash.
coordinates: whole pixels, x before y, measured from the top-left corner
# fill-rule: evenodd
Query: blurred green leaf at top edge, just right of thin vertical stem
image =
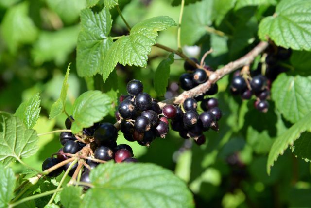
<path id="1" fill-rule="evenodd" d="M 212 0 L 203 0 L 184 9 L 181 23 L 182 45 L 193 45 L 207 33 L 206 26 L 212 24 L 212 11 Z"/>

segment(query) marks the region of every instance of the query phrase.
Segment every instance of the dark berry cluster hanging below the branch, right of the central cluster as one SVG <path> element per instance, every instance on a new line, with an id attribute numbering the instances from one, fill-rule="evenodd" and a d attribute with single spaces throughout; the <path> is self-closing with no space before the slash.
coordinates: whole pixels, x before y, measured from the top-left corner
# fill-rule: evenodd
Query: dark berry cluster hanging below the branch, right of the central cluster
<path id="1" fill-rule="evenodd" d="M 170 105 L 163 108 L 163 114 Z M 197 112 L 198 103 L 193 98 L 187 98 L 183 103 L 184 111 L 175 107 L 176 113 L 172 117 L 171 127 L 174 131 L 179 132 L 180 137 L 184 139 L 193 138 L 195 143 L 202 145 L 206 138 L 203 132 L 212 129 L 218 131 L 217 121 L 222 117 L 222 112 L 218 108 L 216 98 L 203 99 L 201 108 L 205 111 L 201 114 Z"/>

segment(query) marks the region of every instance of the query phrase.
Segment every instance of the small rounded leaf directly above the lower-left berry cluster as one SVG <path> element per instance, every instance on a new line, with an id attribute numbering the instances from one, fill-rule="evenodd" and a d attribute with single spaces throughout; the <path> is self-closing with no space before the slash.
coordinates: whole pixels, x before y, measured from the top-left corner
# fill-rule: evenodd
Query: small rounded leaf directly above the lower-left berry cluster
<path id="1" fill-rule="evenodd" d="M 101 91 L 94 90 L 83 93 L 73 104 L 72 132 L 78 133 L 83 128 L 101 121 L 111 108 L 113 108 L 112 99 Z"/>

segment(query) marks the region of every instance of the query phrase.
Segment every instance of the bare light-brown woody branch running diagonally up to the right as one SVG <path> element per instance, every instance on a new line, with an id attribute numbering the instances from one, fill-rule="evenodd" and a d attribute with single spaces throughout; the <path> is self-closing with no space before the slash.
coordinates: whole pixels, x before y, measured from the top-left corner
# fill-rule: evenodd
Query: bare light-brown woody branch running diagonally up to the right
<path id="1" fill-rule="evenodd" d="M 215 72 L 210 73 L 207 82 L 200 84 L 191 90 L 184 91 L 182 94 L 176 97 L 158 102 L 158 104 L 160 105 L 161 108 L 163 108 L 166 104 L 183 103 L 184 100 L 189 97 L 196 97 L 196 96 L 204 94 L 210 88 L 211 84 L 216 83 L 219 79 L 221 79 L 225 75 L 245 65 L 251 64 L 254 61 L 255 57 L 261 54 L 268 47 L 268 44 L 269 44 L 268 42 L 263 42 L 263 41 L 260 42 L 257 46 L 255 46 L 255 48 L 253 48 L 245 56 L 228 63 L 227 65 L 216 70 Z"/>

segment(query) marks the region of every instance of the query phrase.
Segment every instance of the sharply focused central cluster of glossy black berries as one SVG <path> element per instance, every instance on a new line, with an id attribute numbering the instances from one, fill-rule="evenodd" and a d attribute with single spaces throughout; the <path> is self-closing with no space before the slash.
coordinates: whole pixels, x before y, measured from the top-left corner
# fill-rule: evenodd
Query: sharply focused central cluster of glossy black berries
<path id="1" fill-rule="evenodd" d="M 116 114 L 121 119 L 120 130 L 128 141 L 149 146 L 156 137 L 164 138 L 169 132 L 168 121 L 160 117 L 162 110 L 157 102 L 143 93 L 143 84 L 139 80 L 128 82 L 129 95 L 120 97 L 120 105 Z"/>

